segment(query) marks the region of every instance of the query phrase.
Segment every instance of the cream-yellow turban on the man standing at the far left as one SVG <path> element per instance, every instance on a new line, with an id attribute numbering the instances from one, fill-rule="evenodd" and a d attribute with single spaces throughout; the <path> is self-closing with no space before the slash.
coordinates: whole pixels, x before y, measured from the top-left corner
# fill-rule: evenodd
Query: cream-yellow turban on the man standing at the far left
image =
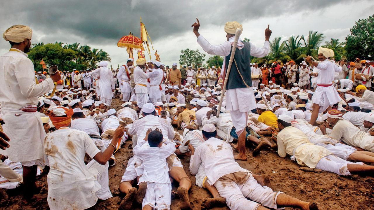
<path id="1" fill-rule="evenodd" d="M 3 33 L 5 41 L 12 41 L 14 43 L 20 43 L 25 39 L 31 39 L 33 30 L 26 25 L 13 25 Z"/>

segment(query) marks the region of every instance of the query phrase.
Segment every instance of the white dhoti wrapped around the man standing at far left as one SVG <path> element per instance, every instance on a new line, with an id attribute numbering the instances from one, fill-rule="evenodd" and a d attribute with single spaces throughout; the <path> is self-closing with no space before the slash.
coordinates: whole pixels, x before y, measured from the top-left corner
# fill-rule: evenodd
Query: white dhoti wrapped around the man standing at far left
<path id="1" fill-rule="evenodd" d="M 9 137 L 10 147 L 2 153 L 10 161 L 21 162 L 24 166 L 45 166 L 44 138 L 46 136 L 42 120 L 37 112 L 1 108 L 4 133 Z"/>

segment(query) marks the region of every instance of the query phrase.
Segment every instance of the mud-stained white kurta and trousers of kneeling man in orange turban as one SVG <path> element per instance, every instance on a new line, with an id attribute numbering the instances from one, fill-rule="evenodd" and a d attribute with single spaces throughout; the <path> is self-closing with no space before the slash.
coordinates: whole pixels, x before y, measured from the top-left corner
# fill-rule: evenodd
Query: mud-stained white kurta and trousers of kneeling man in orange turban
<path id="1" fill-rule="evenodd" d="M 108 164 L 102 166 L 93 160 L 85 165 L 83 161 L 86 153 L 93 158 L 100 152 L 85 132 L 61 127 L 46 137 L 44 149 L 50 166 L 47 182 L 51 210 L 87 209 L 98 198 L 112 197 Z M 104 197 L 99 195 L 102 191 Z"/>

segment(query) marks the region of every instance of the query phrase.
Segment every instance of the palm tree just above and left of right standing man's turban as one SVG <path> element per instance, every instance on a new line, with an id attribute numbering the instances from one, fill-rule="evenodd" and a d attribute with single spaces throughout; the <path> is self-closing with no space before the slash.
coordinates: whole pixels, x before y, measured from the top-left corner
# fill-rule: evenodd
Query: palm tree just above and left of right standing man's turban
<path id="1" fill-rule="evenodd" d="M 302 35 L 301 39 L 304 41 L 304 49 L 303 54 L 300 56 L 306 57 L 307 55 L 310 55 L 316 57 L 316 49 L 322 44 L 324 38 L 324 34 L 318 33 L 318 31 L 309 31 L 307 40 L 305 40 L 304 35 Z"/>

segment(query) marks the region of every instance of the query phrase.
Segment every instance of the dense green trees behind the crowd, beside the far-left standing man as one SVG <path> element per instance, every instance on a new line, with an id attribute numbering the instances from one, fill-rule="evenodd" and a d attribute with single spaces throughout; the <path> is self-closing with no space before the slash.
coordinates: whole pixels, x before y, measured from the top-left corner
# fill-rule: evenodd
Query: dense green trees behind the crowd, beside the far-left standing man
<path id="1" fill-rule="evenodd" d="M 73 69 L 94 69 L 99 61 L 111 61 L 109 54 L 102 49 L 92 49 L 88 45 L 80 46 L 80 43 L 65 44 L 34 43 L 34 47 L 28 53 L 28 58 L 33 61 L 36 71 L 42 71 L 40 61 L 50 65 L 57 65 L 61 71 L 72 71 Z"/>

